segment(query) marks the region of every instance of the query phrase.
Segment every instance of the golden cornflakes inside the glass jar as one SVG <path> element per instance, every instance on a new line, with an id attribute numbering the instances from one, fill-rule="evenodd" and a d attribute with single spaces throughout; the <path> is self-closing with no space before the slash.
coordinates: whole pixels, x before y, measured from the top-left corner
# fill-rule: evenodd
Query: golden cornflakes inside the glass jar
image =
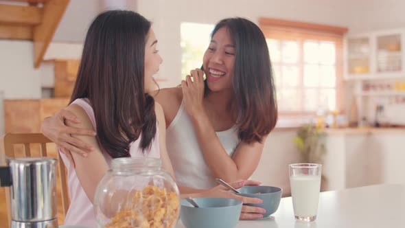
<path id="1" fill-rule="evenodd" d="M 180 204 L 176 192 L 148 185 L 130 194 L 133 194 L 131 207 L 119 211 L 106 228 L 174 227 Z"/>

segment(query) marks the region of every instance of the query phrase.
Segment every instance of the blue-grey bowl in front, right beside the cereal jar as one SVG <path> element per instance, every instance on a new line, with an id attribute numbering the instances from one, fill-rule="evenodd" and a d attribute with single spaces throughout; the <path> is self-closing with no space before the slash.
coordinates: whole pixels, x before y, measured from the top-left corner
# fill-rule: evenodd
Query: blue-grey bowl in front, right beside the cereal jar
<path id="1" fill-rule="evenodd" d="M 194 198 L 198 207 L 182 200 L 180 218 L 187 228 L 233 228 L 242 211 L 242 201 L 233 198 Z"/>

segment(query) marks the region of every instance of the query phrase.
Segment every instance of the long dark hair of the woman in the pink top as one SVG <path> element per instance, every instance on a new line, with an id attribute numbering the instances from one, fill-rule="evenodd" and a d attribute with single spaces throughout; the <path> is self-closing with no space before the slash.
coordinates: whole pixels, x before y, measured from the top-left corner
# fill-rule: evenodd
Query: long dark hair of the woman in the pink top
<path id="1" fill-rule="evenodd" d="M 145 153 L 157 130 L 154 100 L 143 88 L 149 30 L 140 14 L 110 10 L 94 19 L 84 41 L 70 103 L 89 99 L 100 147 L 113 158 L 130 157 L 130 143 L 140 136 Z"/>

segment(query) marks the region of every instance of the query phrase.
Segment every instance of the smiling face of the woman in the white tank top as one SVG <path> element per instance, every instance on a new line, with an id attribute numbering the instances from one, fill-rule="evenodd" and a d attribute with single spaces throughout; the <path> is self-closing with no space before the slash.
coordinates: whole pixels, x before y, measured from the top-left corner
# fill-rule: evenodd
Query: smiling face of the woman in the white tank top
<path id="1" fill-rule="evenodd" d="M 228 28 L 221 27 L 213 34 L 203 58 L 204 71 L 210 91 L 232 89 L 235 52 L 235 44 Z"/>

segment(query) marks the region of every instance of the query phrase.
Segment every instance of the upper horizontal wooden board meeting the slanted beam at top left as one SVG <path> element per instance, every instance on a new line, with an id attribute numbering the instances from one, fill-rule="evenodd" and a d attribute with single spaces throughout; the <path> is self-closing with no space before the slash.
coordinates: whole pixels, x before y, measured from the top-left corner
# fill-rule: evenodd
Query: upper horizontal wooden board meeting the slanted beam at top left
<path id="1" fill-rule="evenodd" d="M 10 25 L 39 25 L 42 9 L 35 6 L 0 4 L 0 23 Z"/>

